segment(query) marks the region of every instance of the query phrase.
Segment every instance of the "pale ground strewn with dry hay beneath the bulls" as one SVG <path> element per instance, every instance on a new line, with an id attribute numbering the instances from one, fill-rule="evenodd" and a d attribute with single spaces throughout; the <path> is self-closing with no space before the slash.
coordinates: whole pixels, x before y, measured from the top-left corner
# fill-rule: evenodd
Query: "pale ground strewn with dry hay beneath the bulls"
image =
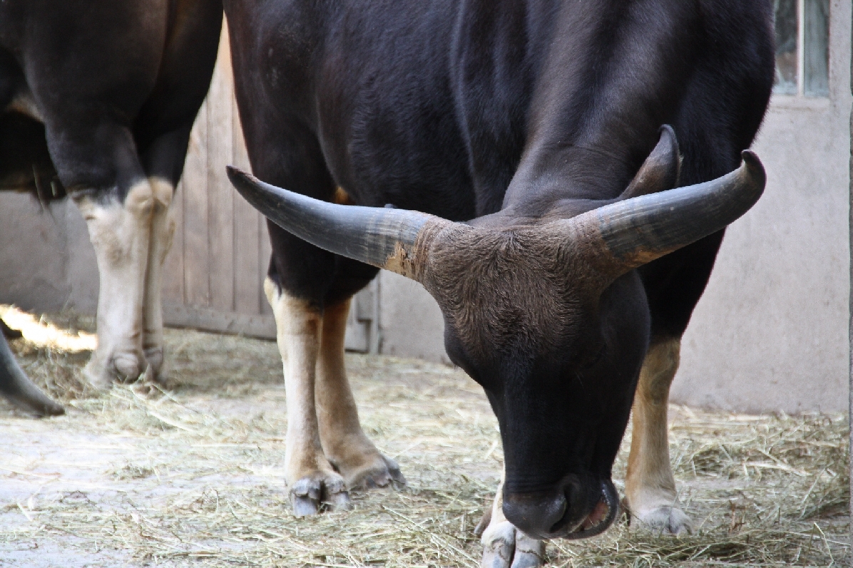
<path id="1" fill-rule="evenodd" d="M 43 323 L 65 329 L 67 320 Z M 30 420 L 0 407 L 9 440 L 0 565 L 478 565 L 473 526 L 502 452 L 485 397 L 461 372 L 349 355 L 365 430 L 409 486 L 358 493 L 348 513 L 294 519 L 282 483 L 275 344 L 189 330 L 167 330 L 166 342 L 175 388 L 153 396 L 132 385 L 98 396 L 81 378 L 84 354 L 12 342 L 69 413 Z M 671 414 L 670 453 L 693 535 L 622 522 L 588 541 L 551 542 L 551 565 L 849 562 L 844 416 Z M 624 444 L 617 479 L 626 452 Z"/>

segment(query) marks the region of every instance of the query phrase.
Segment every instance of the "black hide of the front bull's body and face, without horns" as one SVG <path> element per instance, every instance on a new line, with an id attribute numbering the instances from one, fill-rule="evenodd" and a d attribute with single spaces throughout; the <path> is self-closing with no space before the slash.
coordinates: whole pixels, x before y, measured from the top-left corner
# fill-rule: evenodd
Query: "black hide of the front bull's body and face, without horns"
<path id="1" fill-rule="evenodd" d="M 548 258 L 538 262 L 542 250 L 519 235 L 618 198 L 664 124 L 681 143 L 681 185 L 734 170 L 769 101 L 772 3 L 224 5 L 257 177 L 321 200 L 340 186 L 358 205 L 504 235 L 490 249 L 433 251 L 449 259 L 446 274 L 425 285 L 444 312 L 450 358 L 484 386 L 500 422 L 505 513 L 531 535 L 566 536 L 602 487 L 612 492 L 648 342 L 682 335 L 722 232 L 603 292 L 559 267 L 537 273 Z M 376 272 L 273 223 L 270 236 L 272 280 L 317 306 Z M 532 271 L 503 263 L 512 255 Z M 565 511 L 525 525 L 527 504 L 557 497 Z"/>

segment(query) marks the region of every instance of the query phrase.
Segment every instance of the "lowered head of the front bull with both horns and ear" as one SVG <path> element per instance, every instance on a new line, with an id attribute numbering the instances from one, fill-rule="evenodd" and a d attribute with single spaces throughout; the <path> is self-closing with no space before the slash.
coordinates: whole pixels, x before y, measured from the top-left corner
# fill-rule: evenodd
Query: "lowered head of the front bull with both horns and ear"
<path id="1" fill-rule="evenodd" d="M 711 182 L 671 189 L 677 172 L 664 128 L 618 200 L 510 227 L 338 206 L 230 168 L 229 177 L 293 235 L 427 288 L 448 355 L 483 385 L 500 423 L 507 519 L 531 536 L 581 538 L 618 508 L 612 463 L 649 334 L 633 269 L 722 229 L 764 187 L 748 151 Z"/>

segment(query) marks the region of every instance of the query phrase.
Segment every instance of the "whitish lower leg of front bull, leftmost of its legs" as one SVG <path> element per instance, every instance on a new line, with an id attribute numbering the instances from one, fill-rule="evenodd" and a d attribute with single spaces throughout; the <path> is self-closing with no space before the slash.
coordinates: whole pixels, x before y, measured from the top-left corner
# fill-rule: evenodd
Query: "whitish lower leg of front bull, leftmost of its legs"
<path id="1" fill-rule="evenodd" d="M 320 512 L 323 503 L 349 507 L 344 478 L 323 454 L 317 424 L 315 382 L 322 314 L 308 300 L 283 293 L 269 278 L 264 291 L 276 317 L 276 339 L 287 391 L 285 480 L 293 513 Z"/>

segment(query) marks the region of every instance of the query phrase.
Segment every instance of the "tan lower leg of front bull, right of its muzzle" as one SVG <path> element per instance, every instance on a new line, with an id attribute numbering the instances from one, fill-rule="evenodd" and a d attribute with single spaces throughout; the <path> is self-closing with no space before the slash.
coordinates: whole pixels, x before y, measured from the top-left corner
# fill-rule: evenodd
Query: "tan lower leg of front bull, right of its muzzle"
<path id="1" fill-rule="evenodd" d="M 680 350 L 680 339 L 653 341 L 649 347 L 634 397 L 634 430 L 625 479 L 632 519 L 676 535 L 691 530 L 690 519 L 678 508 L 667 435 L 670 384 L 678 370 Z"/>

